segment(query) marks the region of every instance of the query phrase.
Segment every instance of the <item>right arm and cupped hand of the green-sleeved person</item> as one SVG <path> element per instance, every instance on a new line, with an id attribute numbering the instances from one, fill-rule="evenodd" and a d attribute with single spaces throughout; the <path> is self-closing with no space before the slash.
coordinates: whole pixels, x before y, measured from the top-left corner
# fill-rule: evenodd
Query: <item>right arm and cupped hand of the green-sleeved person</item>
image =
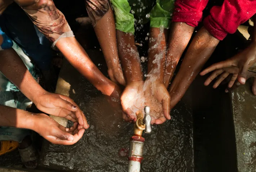
<path id="1" fill-rule="evenodd" d="M 150 28 L 148 76 L 144 83 L 144 90 L 145 104 L 151 108 L 151 123 L 156 124 L 162 124 L 166 119 L 171 119 L 170 96 L 163 84 L 167 38 L 167 29 Z"/>

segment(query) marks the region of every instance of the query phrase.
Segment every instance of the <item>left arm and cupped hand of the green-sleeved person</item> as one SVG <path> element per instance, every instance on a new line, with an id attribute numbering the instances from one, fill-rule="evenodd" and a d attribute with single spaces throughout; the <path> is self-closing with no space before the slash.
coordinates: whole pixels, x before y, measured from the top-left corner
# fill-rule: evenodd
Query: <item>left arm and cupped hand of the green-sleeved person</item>
<path id="1" fill-rule="evenodd" d="M 140 56 L 135 45 L 134 35 L 116 31 L 119 58 L 124 69 L 126 87 L 120 98 L 126 121 L 136 121 L 135 113 L 144 108 L 144 81 Z"/>

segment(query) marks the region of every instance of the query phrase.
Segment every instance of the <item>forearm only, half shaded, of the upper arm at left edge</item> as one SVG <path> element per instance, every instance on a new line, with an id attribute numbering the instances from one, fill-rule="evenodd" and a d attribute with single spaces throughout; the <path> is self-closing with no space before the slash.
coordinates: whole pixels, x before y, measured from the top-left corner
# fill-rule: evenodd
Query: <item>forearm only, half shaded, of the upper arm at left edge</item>
<path id="1" fill-rule="evenodd" d="M 45 92 L 12 48 L 0 51 L 0 71 L 31 101 Z"/>

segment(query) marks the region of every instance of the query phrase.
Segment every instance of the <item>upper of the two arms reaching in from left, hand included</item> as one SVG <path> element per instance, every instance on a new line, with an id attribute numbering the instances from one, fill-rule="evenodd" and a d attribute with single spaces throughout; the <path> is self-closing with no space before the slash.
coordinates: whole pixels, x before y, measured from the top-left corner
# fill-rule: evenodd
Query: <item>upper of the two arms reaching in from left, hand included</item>
<path id="1" fill-rule="evenodd" d="M 12 48 L 0 51 L 0 71 L 42 112 L 78 122 L 86 129 L 89 127 L 78 105 L 67 96 L 45 91 Z"/>

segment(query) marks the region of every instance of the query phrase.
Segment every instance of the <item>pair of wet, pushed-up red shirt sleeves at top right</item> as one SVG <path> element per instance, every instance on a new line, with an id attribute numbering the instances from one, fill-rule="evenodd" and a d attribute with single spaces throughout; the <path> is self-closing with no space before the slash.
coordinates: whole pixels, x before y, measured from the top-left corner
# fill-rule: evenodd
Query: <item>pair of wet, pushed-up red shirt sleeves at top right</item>
<path id="1" fill-rule="evenodd" d="M 203 17 L 208 0 L 176 0 L 173 22 L 185 22 L 196 27 Z M 224 0 L 222 6 L 213 6 L 203 23 L 218 40 L 235 33 L 238 26 L 256 13 L 256 0 Z"/>

